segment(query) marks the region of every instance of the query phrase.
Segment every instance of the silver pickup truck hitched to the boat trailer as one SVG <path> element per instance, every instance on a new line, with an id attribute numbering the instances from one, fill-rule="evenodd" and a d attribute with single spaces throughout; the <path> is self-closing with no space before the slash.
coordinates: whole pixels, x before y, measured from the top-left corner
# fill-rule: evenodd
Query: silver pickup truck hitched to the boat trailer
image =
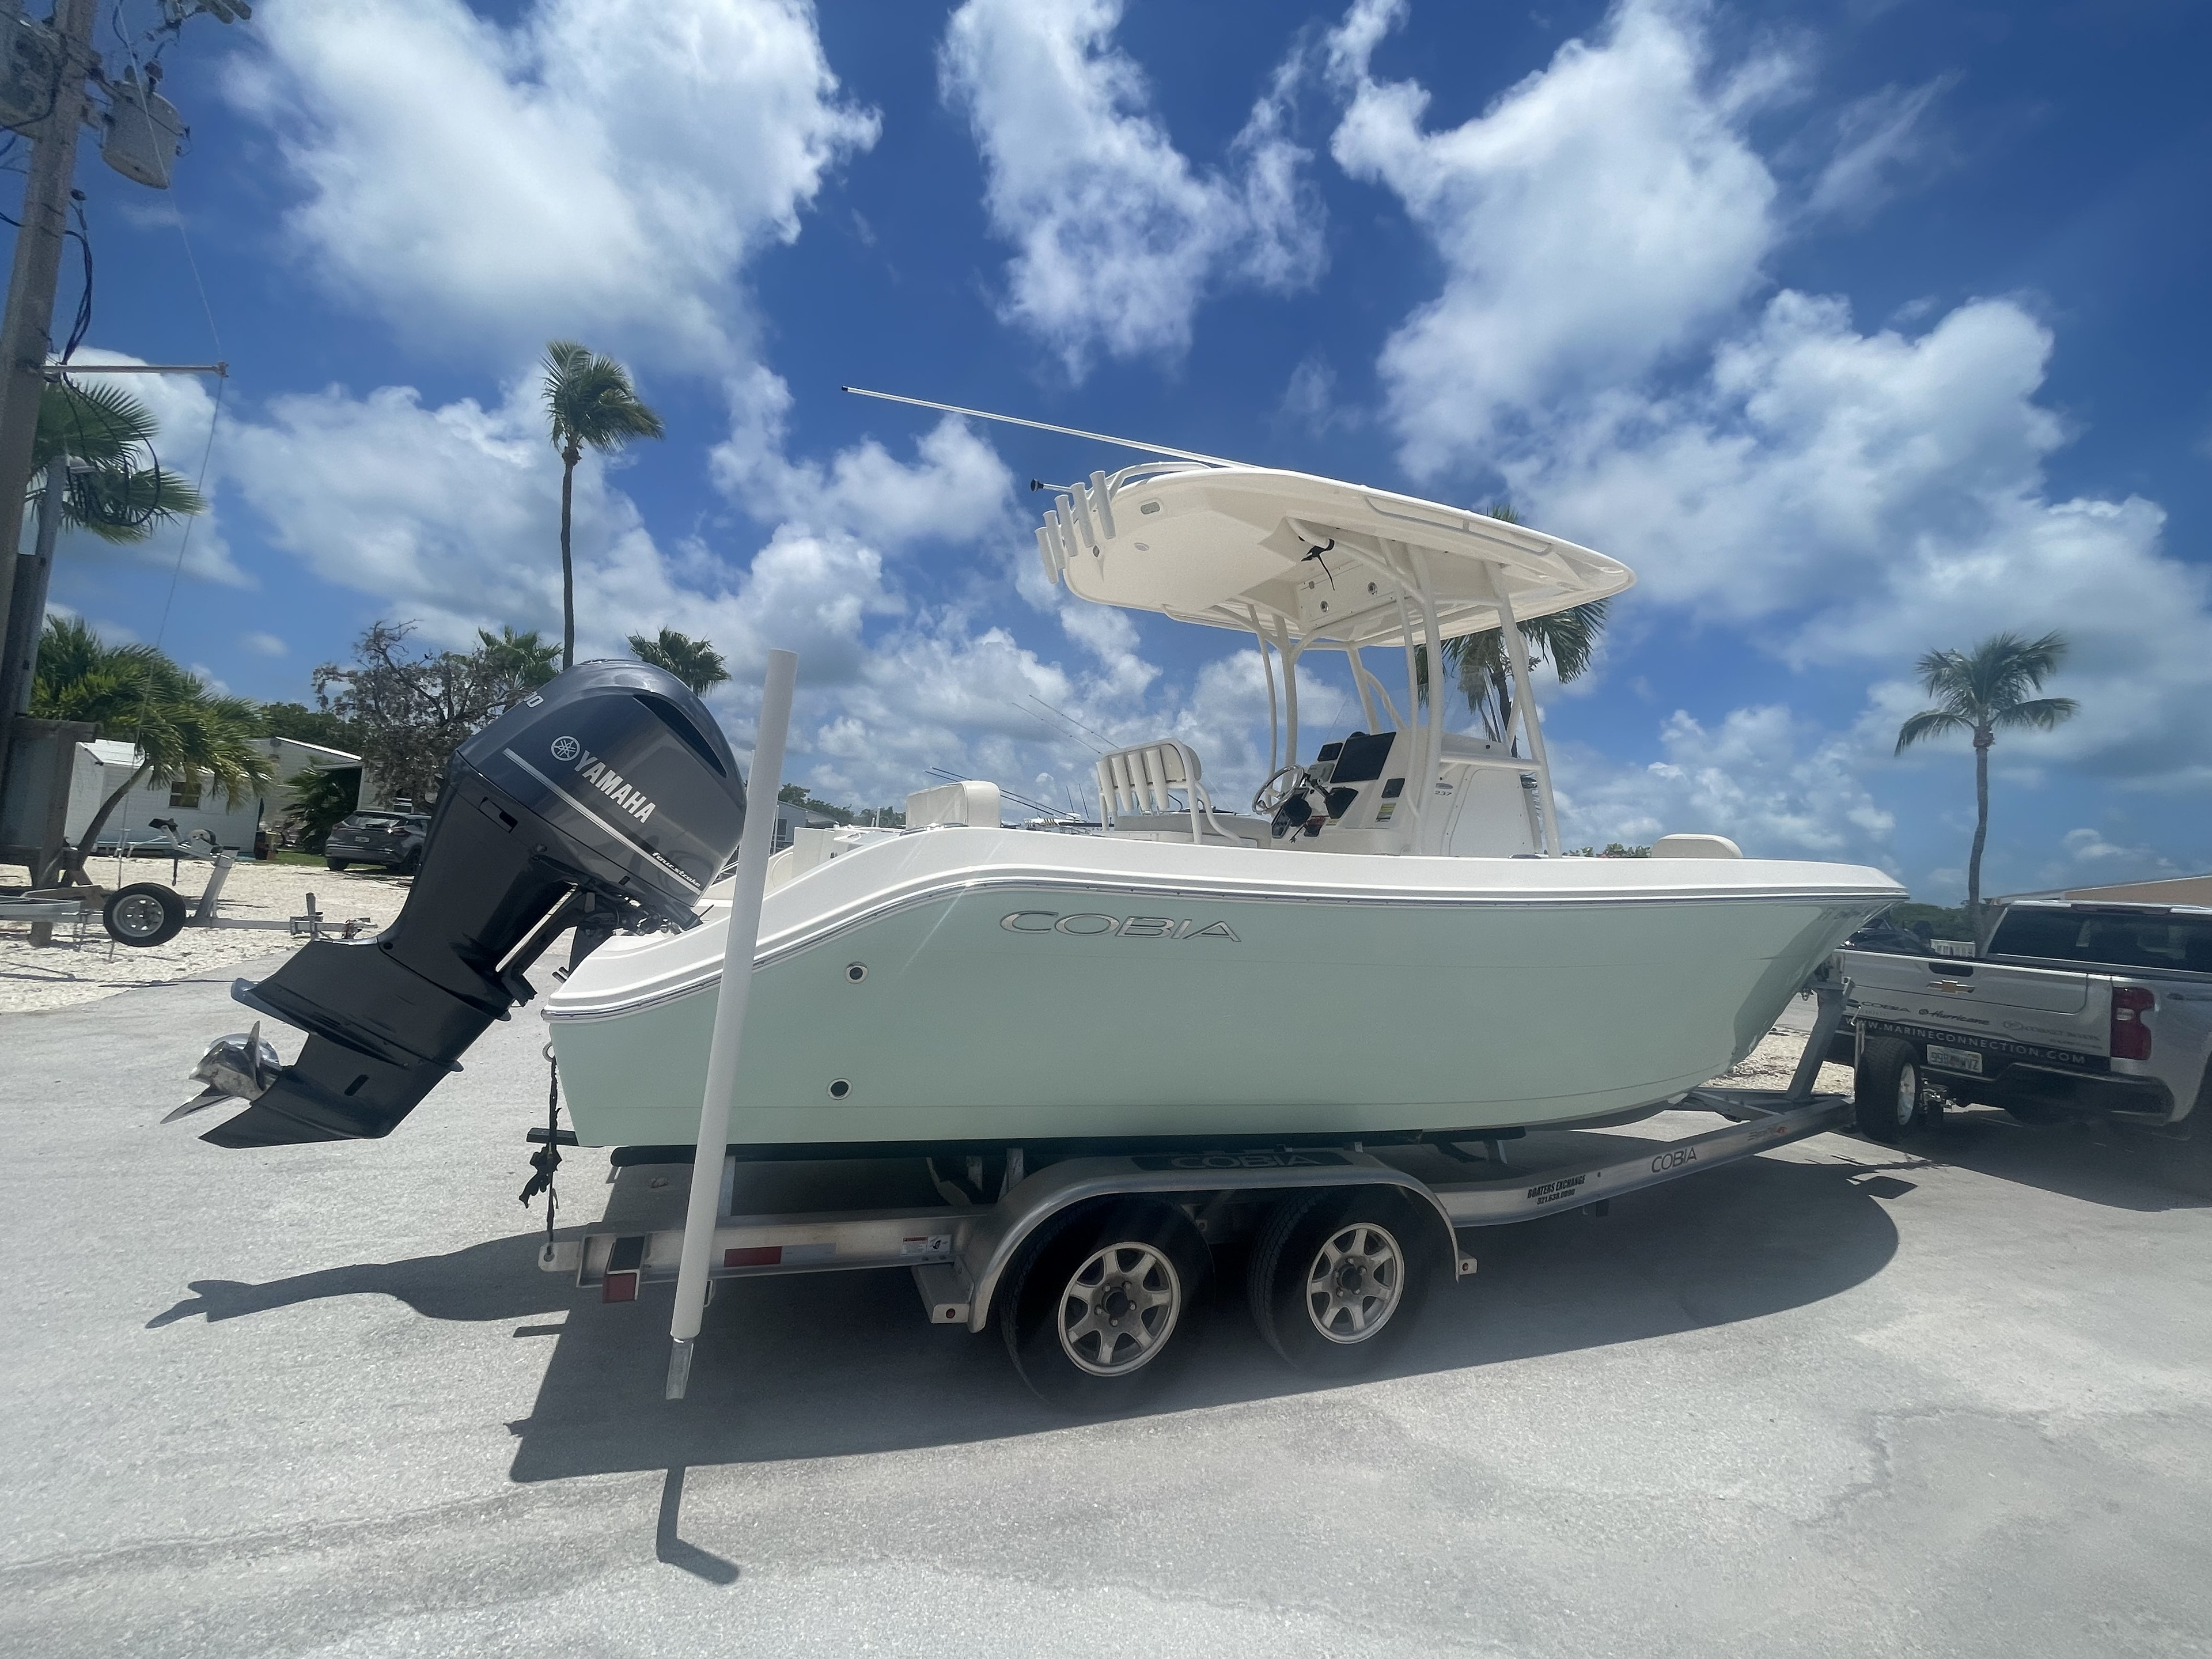
<path id="1" fill-rule="evenodd" d="M 1874 1139 L 1931 1126 L 1944 1104 L 2174 1137 L 2212 1119 L 2208 907 L 2020 898 L 1978 958 L 1847 942 L 1834 971 L 1847 995 L 1829 1057 L 1854 1064 Z"/>

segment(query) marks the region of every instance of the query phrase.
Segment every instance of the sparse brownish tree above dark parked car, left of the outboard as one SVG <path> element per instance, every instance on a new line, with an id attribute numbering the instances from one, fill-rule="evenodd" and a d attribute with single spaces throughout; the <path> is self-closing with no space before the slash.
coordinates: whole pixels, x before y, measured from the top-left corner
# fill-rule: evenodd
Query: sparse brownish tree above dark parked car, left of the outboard
<path id="1" fill-rule="evenodd" d="M 376 622 L 352 664 L 314 670 L 321 708 L 361 732 L 361 759 L 394 796 L 429 805 L 445 765 L 478 730 L 553 677 L 533 633 L 476 630 L 476 650 L 414 650 L 411 622 Z"/>

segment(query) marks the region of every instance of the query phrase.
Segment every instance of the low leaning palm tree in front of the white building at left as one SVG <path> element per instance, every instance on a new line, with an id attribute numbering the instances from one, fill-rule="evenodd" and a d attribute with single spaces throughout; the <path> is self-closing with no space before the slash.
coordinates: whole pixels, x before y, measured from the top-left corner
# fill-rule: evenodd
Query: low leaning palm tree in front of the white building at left
<path id="1" fill-rule="evenodd" d="M 254 748 L 259 710 L 243 697 L 219 697 L 153 646 L 108 646 L 80 617 L 49 617 L 31 681 L 38 719 L 93 721 L 100 734 L 135 743 L 139 763 L 100 803 L 73 849 L 66 878 L 84 883 L 84 860 L 124 796 L 144 779 L 166 783 L 206 772 L 223 801 L 237 801 L 274 776 Z M 46 878 L 46 872 L 35 872 Z"/>

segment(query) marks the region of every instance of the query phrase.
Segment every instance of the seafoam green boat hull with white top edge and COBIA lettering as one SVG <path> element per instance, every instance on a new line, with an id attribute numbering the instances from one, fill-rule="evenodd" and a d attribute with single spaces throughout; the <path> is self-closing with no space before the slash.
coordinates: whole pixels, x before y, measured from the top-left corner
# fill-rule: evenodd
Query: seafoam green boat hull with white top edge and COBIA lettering
<path id="1" fill-rule="evenodd" d="M 1285 856 L 958 827 L 768 896 L 739 1144 L 1566 1124 L 1734 1064 L 1900 898 L 1774 860 Z M 586 1146 L 699 1126 L 723 905 L 546 1002 Z"/>

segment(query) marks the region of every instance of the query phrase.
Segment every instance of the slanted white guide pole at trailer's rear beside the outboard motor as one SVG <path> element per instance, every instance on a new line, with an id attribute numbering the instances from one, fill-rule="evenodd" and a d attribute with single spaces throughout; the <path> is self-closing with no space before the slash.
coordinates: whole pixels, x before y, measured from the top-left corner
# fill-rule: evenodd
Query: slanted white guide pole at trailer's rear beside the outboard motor
<path id="1" fill-rule="evenodd" d="M 714 1245 L 714 1208 L 721 1199 L 721 1159 L 730 1148 L 730 1095 L 737 1091 L 737 1048 L 745 1035 L 745 998 L 752 956 L 761 942 L 761 894 L 768 854 L 776 845 L 776 787 L 783 781 L 783 737 L 792 723 L 792 681 L 799 657 L 768 653 L 761 688 L 761 732 L 745 779 L 745 832 L 737 841 L 737 885 L 730 891 L 730 936 L 721 951 L 721 991 L 714 1002 L 714 1040 L 706 1053 L 706 1097 L 699 1102 L 699 1148 L 692 1152 L 690 1208 L 684 1212 L 684 1265 L 677 1270 L 677 1312 L 668 1323 L 668 1398 L 681 1400 L 690 1383 L 690 1349 L 706 1314 L 708 1252 Z"/>

